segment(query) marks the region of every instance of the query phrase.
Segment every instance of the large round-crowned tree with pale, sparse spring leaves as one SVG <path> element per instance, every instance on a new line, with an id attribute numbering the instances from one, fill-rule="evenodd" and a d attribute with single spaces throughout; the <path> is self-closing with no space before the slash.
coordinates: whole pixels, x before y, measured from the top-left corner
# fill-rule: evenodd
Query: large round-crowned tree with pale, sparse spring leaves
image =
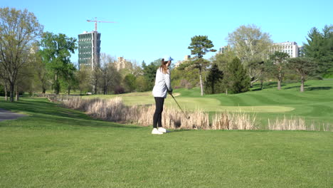
<path id="1" fill-rule="evenodd" d="M 260 78 L 260 66 L 248 66 L 251 63 L 260 63 L 267 59 L 269 49 L 273 44 L 270 34 L 261 31 L 258 26 L 248 25 L 236 28 L 236 31 L 228 33 L 228 44 L 236 51 L 240 61 L 248 68 L 251 85 Z"/>

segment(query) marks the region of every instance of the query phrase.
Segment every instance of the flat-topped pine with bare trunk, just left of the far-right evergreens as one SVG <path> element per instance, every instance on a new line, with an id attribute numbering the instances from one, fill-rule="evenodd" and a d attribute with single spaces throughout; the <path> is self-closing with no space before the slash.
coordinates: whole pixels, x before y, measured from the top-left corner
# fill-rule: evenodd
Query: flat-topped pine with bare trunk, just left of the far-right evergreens
<path id="1" fill-rule="evenodd" d="M 304 83 L 307 76 L 313 75 L 317 70 L 317 63 L 314 58 L 290 58 L 288 67 L 296 71 L 301 78 L 300 92 L 304 92 Z"/>

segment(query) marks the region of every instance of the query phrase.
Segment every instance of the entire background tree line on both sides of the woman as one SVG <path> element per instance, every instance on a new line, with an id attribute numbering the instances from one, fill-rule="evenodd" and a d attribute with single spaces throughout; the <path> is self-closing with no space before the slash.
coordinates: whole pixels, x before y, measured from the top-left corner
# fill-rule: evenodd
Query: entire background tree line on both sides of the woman
<path id="1" fill-rule="evenodd" d="M 102 53 L 100 65 L 76 68 L 70 56 L 78 48 L 77 39 L 63 33 L 43 32 L 36 16 L 27 10 L 0 8 L 0 95 L 18 100 L 19 93 L 36 91 L 80 94 L 119 94 L 152 90 L 161 59 L 117 71 L 115 57 Z M 300 90 L 309 76 L 332 78 L 333 26 L 320 32 L 312 28 L 304 45 L 304 56 L 290 58 L 275 47 L 269 33 L 258 26 L 240 26 L 228 33 L 228 48 L 209 59 L 215 52 L 208 36 L 194 36 L 188 49 L 192 58 L 171 67 L 174 88 L 200 87 L 204 93 L 241 93 L 254 83 L 277 80 L 277 89 L 286 75 L 300 80 Z"/>

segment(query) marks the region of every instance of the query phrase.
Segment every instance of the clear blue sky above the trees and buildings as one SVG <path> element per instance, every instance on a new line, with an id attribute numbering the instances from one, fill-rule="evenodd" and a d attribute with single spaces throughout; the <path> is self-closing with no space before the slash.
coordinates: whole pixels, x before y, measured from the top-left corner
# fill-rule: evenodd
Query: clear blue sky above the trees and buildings
<path id="1" fill-rule="evenodd" d="M 116 21 L 97 23 L 102 33 L 101 52 L 124 56 L 141 65 L 164 55 L 176 61 L 191 52 L 191 37 L 206 35 L 218 50 L 227 45 L 228 33 L 241 25 L 255 24 L 274 42 L 296 41 L 302 45 L 310 28 L 332 24 L 332 0 L 317 1 L 46 1 L 1 0 L 1 7 L 28 9 L 44 31 L 78 38 L 93 31 L 88 19 Z M 210 58 L 208 53 L 205 58 Z M 72 55 L 78 62 L 78 52 Z"/>

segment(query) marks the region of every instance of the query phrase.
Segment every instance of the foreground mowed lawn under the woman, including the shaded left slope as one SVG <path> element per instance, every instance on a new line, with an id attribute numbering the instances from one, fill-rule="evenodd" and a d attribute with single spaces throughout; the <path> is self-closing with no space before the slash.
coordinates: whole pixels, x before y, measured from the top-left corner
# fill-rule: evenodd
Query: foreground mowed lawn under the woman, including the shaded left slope
<path id="1" fill-rule="evenodd" d="M 332 132 L 179 130 L 0 100 L 0 187 L 332 187 Z"/>

